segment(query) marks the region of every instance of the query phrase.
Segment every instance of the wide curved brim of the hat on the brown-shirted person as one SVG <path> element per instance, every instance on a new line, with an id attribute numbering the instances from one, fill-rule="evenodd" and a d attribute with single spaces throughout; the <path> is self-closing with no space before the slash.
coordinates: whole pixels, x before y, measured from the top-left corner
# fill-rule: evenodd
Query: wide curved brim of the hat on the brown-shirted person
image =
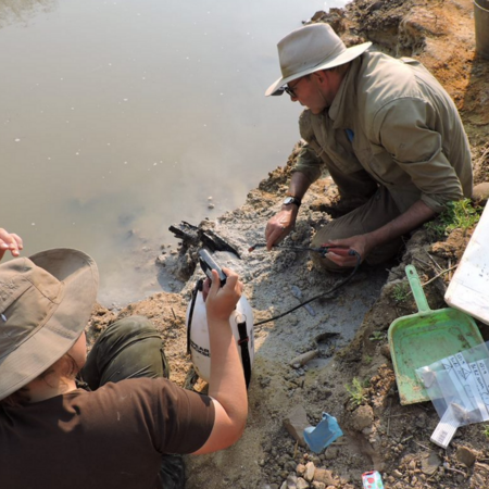
<path id="1" fill-rule="evenodd" d="M 63 298 L 35 335 L 0 361 L 0 400 L 34 380 L 75 344 L 97 301 L 99 273 L 87 254 L 59 248 L 29 259 L 63 283 Z"/>

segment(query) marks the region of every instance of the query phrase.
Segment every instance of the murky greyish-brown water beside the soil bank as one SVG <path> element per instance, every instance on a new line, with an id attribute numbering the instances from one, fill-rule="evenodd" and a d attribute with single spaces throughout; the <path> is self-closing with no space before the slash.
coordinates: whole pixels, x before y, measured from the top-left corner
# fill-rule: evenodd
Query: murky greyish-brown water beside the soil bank
<path id="1" fill-rule="evenodd" d="M 91 254 L 105 304 L 167 287 L 168 226 L 240 205 L 298 139 L 263 96 L 277 40 L 344 3 L 0 0 L 0 226 Z"/>

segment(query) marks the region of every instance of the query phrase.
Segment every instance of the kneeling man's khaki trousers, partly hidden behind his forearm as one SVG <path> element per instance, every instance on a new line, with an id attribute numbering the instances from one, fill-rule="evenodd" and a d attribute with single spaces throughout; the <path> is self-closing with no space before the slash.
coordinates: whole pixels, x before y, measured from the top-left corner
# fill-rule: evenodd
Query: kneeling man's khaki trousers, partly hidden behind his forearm
<path id="1" fill-rule="evenodd" d="M 311 246 L 321 247 L 333 239 L 351 238 L 352 236 L 371 233 L 390 223 L 400 214 L 389 191 L 385 187 L 379 187 L 365 204 L 322 227 L 314 236 Z M 401 247 L 402 239 L 397 238 L 373 250 L 365 258 L 365 262 L 371 265 L 383 263 L 396 256 Z M 328 272 L 344 271 L 343 267 L 333 263 L 326 256 L 322 258 L 319 253 L 311 253 L 313 263 L 317 268 Z"/>

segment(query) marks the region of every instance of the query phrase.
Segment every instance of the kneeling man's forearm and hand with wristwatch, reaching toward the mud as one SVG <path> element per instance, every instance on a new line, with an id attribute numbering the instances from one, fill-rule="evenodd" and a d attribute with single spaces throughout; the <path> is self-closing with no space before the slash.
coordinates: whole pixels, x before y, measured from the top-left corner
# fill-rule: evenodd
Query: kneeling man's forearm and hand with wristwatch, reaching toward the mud
<path id="1" fill-rule="evenodd" d="M 290 179 L 288 195 L 302 200 L 310 186 L 311 179 L 301 172 L 296 172 Z M 298 212 L 299 208 L 293 203 L 283 205 L 281 210 L 268 221 L 265 228 L 266 249 L 268 251 L 292 230 Z"/>

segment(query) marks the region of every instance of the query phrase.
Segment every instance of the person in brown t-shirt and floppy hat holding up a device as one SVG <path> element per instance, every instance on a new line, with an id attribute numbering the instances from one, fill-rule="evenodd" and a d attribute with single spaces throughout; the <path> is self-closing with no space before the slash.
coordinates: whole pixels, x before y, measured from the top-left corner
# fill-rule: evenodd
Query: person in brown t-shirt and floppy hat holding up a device
<path id="1" fill-rule="evenodd" d="M 206 297 L 209 396 L 167 378 L 162 340 L 141 316 L 117 321 L 88 359 L 93 260 L 54 249 L 0 264 L 0 474 L 11 489 L 181 488 L 179 455 L 223 450 L 247 414 L 229 325 L 242 285 L 230 269 Z M 77 374 L 90 390 L 79 387 Z"/>

